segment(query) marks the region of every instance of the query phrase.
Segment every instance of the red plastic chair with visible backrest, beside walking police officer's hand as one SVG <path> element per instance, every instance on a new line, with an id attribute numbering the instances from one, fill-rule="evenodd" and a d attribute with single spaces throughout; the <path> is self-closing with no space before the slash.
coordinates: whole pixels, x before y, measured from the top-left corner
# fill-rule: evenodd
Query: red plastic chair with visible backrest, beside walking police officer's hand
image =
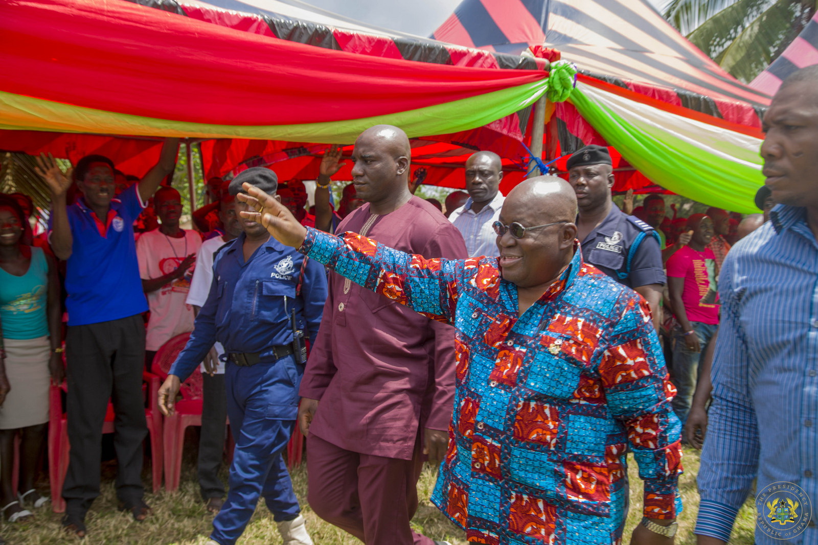
<path id="1" fill-rule="evenodd" d="M 156 352 L 151 369 L 164 381 L 168 377 L 173 362 L 179 355 L 190 333 L 173 337 Z M 185 442 L 185 429 L 188 426 L 202 425 L 202 373 L 197 369 L 182 382 L 179 389 L 182 399 L 175 405 L 175 412 L 164 418 L 164 488 L 173 492 L 179 488 L 179 477 L 182 474 L 182 449 Z"/>

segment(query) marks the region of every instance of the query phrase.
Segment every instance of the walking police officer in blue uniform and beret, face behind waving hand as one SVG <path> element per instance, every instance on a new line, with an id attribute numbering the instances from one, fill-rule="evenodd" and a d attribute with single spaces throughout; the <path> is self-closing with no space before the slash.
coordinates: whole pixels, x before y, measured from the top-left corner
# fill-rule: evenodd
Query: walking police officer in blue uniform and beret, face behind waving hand
<path id="1" fill-rule="evenodd" d="M 243 182 L 275 194 L 277 177 L 267 168 L 236 176 L 230 194 Z M 237 209 L 246 209 L 236 201 Z M 225 349 L 227 417 L 236 440 L 230 490 L 213 519 L 210 542 L 232 545 L 263 496 L 286 545 L 312 545 L 281 451 L 290 440 L 299 404 L 306 352 L 321 323 L 326 274 L 315 261 L 272 239 L 263 226 L 242 220 L 244 232 L 219 248 L 213 283 L 193 333 L 160 388 L 160 409 L 173 412 L 179 384 L 213 346 Z"/>

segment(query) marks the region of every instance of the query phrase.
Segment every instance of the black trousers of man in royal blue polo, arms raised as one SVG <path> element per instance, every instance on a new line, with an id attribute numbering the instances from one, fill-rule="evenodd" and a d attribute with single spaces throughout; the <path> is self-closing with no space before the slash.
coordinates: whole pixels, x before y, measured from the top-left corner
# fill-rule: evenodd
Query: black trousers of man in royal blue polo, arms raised
<path id="1" fill-rule="evenodd" d="M 141 315 L 70 326 L 65 336 L 68 378 L 66 514 L 85 516 L 100 494 L 102 424 L 114 404 L 116 495 L 130 505 L 142 499 L 142 441 L 147 436 L 142 369 L 145 321 Z"/>

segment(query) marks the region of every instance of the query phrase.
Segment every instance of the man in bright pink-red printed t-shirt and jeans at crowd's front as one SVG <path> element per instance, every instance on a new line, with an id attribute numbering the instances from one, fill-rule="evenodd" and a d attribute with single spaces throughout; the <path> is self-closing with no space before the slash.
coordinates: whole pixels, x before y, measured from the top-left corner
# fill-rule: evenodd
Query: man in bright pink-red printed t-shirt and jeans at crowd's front
<path id="1" fill-rule="evenodd" d="M 708 243 L 713 222 L 705 214 L 687 220 L 690 243 L 667 260 L 667 289 L 678 324 L 673 329 L 671 380 L 676 385 L 673 410 L 685 424 L 699 376 L 699 359 L 718 328 L 717 264 Z"/>

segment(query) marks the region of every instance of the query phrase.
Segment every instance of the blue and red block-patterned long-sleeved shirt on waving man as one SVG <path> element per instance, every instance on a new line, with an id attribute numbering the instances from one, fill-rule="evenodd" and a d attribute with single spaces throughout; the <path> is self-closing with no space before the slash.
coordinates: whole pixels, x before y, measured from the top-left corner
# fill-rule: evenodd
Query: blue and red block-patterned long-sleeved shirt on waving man
<path id="1" fill-rule="evenodd" d="M 470 541 L 620 543 L 628 445 L 645 516 L 681 512 L 681 426 L 649 310 L 578 245 L 522 316 L 497 258 L 424 260 L 312 229 L 302 251 L 455 325 L 455 405 L 432 502 Z"/>

